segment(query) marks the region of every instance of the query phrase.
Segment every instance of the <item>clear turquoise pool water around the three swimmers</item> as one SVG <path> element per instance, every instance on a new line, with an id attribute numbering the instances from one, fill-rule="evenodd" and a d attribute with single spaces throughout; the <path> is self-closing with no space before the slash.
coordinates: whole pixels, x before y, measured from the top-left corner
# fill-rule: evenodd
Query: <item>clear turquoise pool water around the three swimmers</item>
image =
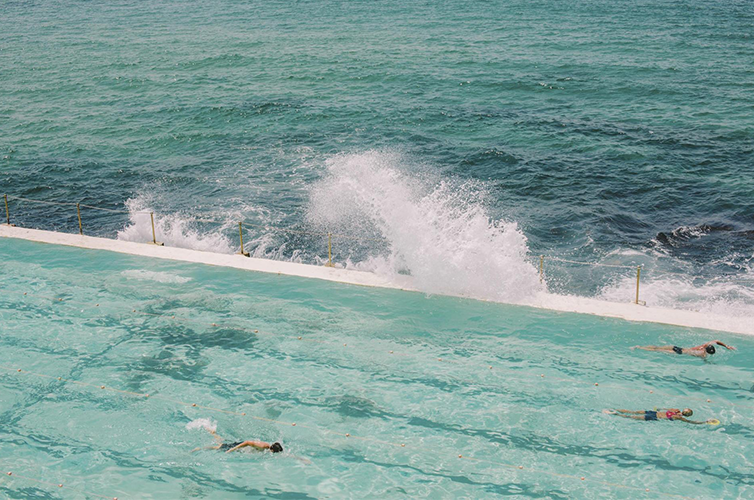
<path id="1" fill-rule="evenodd" d="M 749 337 L 16 240 L 0 255 L 0 464 L 24 476 L 3 497 L 754 496 Z M 712 338 L 739 350 L 630 349 Z M 601 413 L 655 406 L 722 424 Z M 212 444 L 197 419 L 286 451 L 191 454 Z"/>

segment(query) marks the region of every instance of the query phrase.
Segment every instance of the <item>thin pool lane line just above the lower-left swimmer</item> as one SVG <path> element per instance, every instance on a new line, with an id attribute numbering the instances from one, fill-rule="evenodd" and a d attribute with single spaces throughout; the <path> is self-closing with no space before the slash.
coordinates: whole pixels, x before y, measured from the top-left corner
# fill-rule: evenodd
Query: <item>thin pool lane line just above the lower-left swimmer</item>
<path id="1" fill-rule="evenodd" d="M 81 385 L 81 386 L 86 386 L 86 387 L 93 387 L 93 388 L 98 388 L 99 387 L 100 389 L 106 389 L 107 388 L 106 386 L 97 386 L 96 384 L 89 384 L 89 383 L 86 383 L 86 382 L 78 382 L 76 380 L 65 379 L 63 377 L 55 377 L 53 375 L 46 375 L 46 374 L 31 372 L 31 371 L 28 371 L 28 370 L 23 370 L 21 368 L 15 368 L 14 369 L 14 368 L 10 368 L 10 367 L 7 367 L 7 366 L 0 365 L 0 369 L 7 370 L 7 371 L 9 371 L 11 373 L 15 372 L 15 373 L 29 374 L 29 375 L 39 376 L 39 377 L 42 377 L 42 378 L 54 379 L 54 380 L 58 380 L 58 381 L 61 381 L 61 382 L 71 382 L 71 383 L 75 383 L 75 384 L 78 384 L 78 385 Z M 282 421 L 282 420 L 275 420 L 275 419 L 271 419 L 271 418 L 258 417 L 256 415 L 249 415 L 246 412 L 238 412 L 238 411 L 232 411 L 232 410 L 223 410 L 223 409 L 220 409 L 220 408 L 214 408 L 212 406 L 204 406 L 204 405 L 199 405 L 199 404 L 196 404 L 196 403 L 187 403 L 185 401 L 181 401 L 181 400 L 178 400 L 178 399 L 169 398 L 169 397 L 166 397 L 166 396 L 160 396 L 160 395 L 150 396 L 150 395 L 144 394 L 144 393 L 137 393 L 137 392 L 131 392 L 131 391 L 122 391 L 122 390 L 112 389 L 112 388 L 110 388 L 110 390 L 113 391 L 113 392 L 119 393 L 119 394 L 142 396 L 142 397 L 148 397 L 150 399 L 160 399 L 160 400 L 163 400 L 163 401 L 168 401 L 168 402 L 172 402 L 172 403 L 176 403 L 176 404 L 180 404 L 180 405 L 188 406 L 188 407 L 192 407 L 192 408 L 198 408 L 198 409 L 203 409 L 203 410 L 208 410 L 208 411 L 216 411 L 216 412 L 221 412 L 221 413 L 230 414 L 230 415 L 237 415 L 237 416 L 241 416 L 241 417 L 249 417 L 249 418 L 252 418 L 254 420 L 260 420 L 260 421 L 270 422 L 270 423 L 274 423 L 274 424 L 278 424 L 278 425 L 284 425 L 286 427 L 300 427 L 300 428 L 303 428 L 303 429 L 309 429 L 309 430 L 317 431 L 317 432 L 320 432 L 320 433 L 323 433 L 323 434 L 334 435 L 334 436 L 339 436 L 339 437 L 345 437 L 347 439 L 355 439 L 355 440 L 358 440 L 358 441 L 378 443 L 378 444 L 384 444 L 384 445 L 389 445 L 389 446 L 394 446 L 394 447 L 400 447 L 400 448 L 406 448 L 406 447 L 408 447 L 409 449 L 413 449 L 413 450 L 423 450 L 423 451 L 426 451 L 426 452 L 428 452 L 428 453 L 430 453 L 432 455 L 436 455 L 437 454 L 437 450 L 430 449 L 430 448 L 427 448 L 427 447 L 424 447 L 424 446 L 420 446 L 420 445 L 409 445 L 409 446 L 407 446 L 406 442 L 397 443 L 397 442 L 392 442 L 392 441 L 383 441 L 383 440 L 380 440 L 380 439 L 375 439 L 375 438 L 366 437 L 366 436 L 355 436 L 355 435 L 350 434 L 348 432 L 344 433 L 342 431 L 333 431 L 331 429 L 326 429 L 326 428 L 319 427 L 319 426 L 316 426 L 316 425 L 297 424 L 296 422 L 285 422 L 285 421 Z M 656 494 L 659 494 L 659 495 L 663 495 L 663 496 L 694 500 L 691 497 L 684 497 L 682 495 L 675 495 L 675 494 L 672 494 L 672 493 L 665 493 L 665 492 L 662 492 L 662 491 L 659 491 L 659 490 L 653 490 L 653 489 L 650 489 L 650 488 L 639 488 L 637 486 L 628 486 L 628 485 L 619 484 L 619 483 L 609 483 L 609 482 L 606 482 L 606 481 L 601 481 L 599 479 L 591 479 L 591 478 L 588 478 L 586 476 L 574 476 L 574 475 L 571 475 L 571 474 L 562 474 L 562 473 L 558 473 L 558 472 L 543 471 L 543 470 L 534 469 L 534 468 L 530 468 L 530 467 L 524 467 L 522 465 L 513 465 L 513 464 L 508 464 L 508 463 L 505 463 L 505 462 L 497 462 L 497 461 L 494 461 L 494 460 L 488 460 L 488 459 L 483 459 L 483 458 L 475 458 L 473 456 L 467 456 L 467 455 L 463 455 L 463 454 L 459 454 L 458 458 L 459 459 L 471 460 L 471 461 L 475 461 L 475 462 L 485 462 L 485 463 L 489 463 L 489 464 L 492 464 L 492 465 L 502 466 L 502 467 L 505 467 L 505 468 L 514 469 L 517 472 L 534 472 L 534 473 L 538 473 L 538 474 L 550 475 L 550 476 L 553 476 L 553 477 L 561 477 L 561 478 L 567 478 L 567 479 L 577 479 L 577 480 L 580 480 L 580 481 L 589 481 L 589 482 L 599 483 L 599 484 L 606 485 L 606 486 L 612 486 L 612 487 L 615 487 L 615 488 L 625 488 L 625 489 L 631 489 L 631 490 L 636 490 L 636 491 L 642 491 L 643 490 L 645 492 L 650 492 L 651 491 L 653 493 L 656 493 Z M 52 484 L 52 483 L 50 483 L 50 484 Z M 112 497 L 103 497 L 103 498 L 112 498 Z"/>

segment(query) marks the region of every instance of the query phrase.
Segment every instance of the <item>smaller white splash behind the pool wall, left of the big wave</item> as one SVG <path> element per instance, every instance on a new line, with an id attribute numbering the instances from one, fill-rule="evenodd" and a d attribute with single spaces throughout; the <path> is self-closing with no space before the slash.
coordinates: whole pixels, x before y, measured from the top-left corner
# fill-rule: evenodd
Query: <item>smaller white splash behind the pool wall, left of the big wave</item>
<path id="1" fill-rule="evenodd" d="M 137 196 L 126 202 L 129 211 L 129 224 L 121 231 L 118 231 L 117 238 L 123 241 L 149 242 L 152 241 L 152 222 L 149 212 L 153 212 L 150 207 L 149 196 Z M 233 245 L 223 234 L 225 226 L 231 225 L 228 222 L 225 225 L 218 226 L 213 231 L 199 231 L 190 218 L 182 217 L 179 214 L 164 215 L 155 213 L 154 230 L 157 241 L 167 246 L 190 248 L 192 250 L 202 250 L 205 252 L 233 253 Z"/>

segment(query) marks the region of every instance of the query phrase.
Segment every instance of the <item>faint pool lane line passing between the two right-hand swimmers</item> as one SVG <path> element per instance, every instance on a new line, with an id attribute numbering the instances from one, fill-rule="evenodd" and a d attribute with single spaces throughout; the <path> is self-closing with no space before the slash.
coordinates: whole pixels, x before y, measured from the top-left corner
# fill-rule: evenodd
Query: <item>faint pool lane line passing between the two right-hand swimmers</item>
<path id="1" fill-rule="evenodd" d="M 23 295 L 27 296 L 27 292 L 24 292 Z M 34 295 L 34 297 L 43 298 L 43 299 L 49 299 L 49 300 L 52 300 L 53 302 L 58 302 L 58 303 L 59 302 L 63 302 L 63 303 L 68 303 L 68 304 L 78 304 L 81 307 L 87 307 L 87 308 L 90 308 L 90 309 L 96 309 L 96 308 L 100 307 L 99 303 L 96 303 L 95 305 L 92 305 L 91 302 L 81 302 L 81 301 L 75 301 L 75 300 L 68 300 L 68 299 L 64 299 L 64 298 L 61 298 L 61 297 L 51 297 L 49 295 Z M 248 327 L 245 327 L 245 326 L 232 325 L 232 324 L 228 324 L 228 323 L 205 323 L 203 321 L 199 321 L 199 320 L 196 320 L 196 319 L 193 319 L 193 318 L 188 318 L 188 317 L 181 317 L 181 316 L 175 315 L 175 314 L 160 314 L 160 313 L 151 313 L 151 312 L 148 312 L 148 311 L 143 311 L 143 310 L 134 309 L 134 308 L 130 308 L 130 309 L 131 309 L 132 313 L 136 313 L 136 314 L 141 314 L 141 315 L 150 316 L 150 317 L 159 317 L 159 318 L 163 318 L 163 319 L 183 321 L 183 322 L 195 322 L 195 323 L 199 323 L 199 324 L 209 325 L 212 328 L 235 328 L 235 329 L 243 330 L 243 331 L 250 332 L 250 333 L 253 332 L 255 334 L 270 335 L 270 336 L 277 337 L 277 338 L 292 338 L 292 337 L 294 337 L 292 335 L 280 335 L 280 334 L 276 334 L 276 333 L 272 333 L 272 332 L 260 331 L 258 329 L 248 328 Z M 304 338 L 301 335 L 296 336 L 295 338 L 296 338 L 296 340 L 299 340 L 299 341 L 302 341 L 302 342 L 311 342 L 311 343 L 330 345 L 330 346 L 340 346 L 340 344 L 336 344 L 334 342 L 328 342 L 328 341 L 316 340 L 316 339 L 308 339 L 308 338 Z M 347 343 L 343 343 L 343 347 L 348 347 L 348 344 Z M 389 354 L 391 354 L 391 355 L 397 355 L 397 356 L 406 356 L 406 357 L 410 356 L 409 354 L 396 353 L 395 351 L 392 351 L 392 350 L 389 351 Z M 439 357 L 439 358 L 436 358 L 436 359 L 437 359 L 438 363 L 449 363 L 449 364 L 455 364 L 455 365 L 459 365 L 459 366 L 460 365 L 477 366 L 475 363 L 460 362 L 460 361 L 445 359 L 445 358 L 442 358 L 442 357 Z M 512 376 L 508 376 L 508 378 L 516 378 L 518 380 L 530 380 L 529 378 L 524 378 L 524 377 L 516 376 L 515 374 L 517 372 L 515 370 L 510 370 L 510 369 L 506 369 L 506 368 L 502 368 L 501 369 L 499 366 L 498 367 L 494 367 L 493 365 L 485 365 L 485 366 L 487 366 L 488 370 L 494 370 L 494 371 L 505 373 L 505 374 L 514 374 Z M 545 378 L 545 377 L 546 377 L 545 374 L 541 374 L 539 378 Z M 459 382 L 465 382 L 465 383 L 471 382 L 471 383 L 479 385 L 479 383 L 476 382 L 476 381 L 469 381 L 469 380 L 458 379 L 457 377 L 453 377 L 453 378 L 456 379 L 456 380 L 458 380 Z M 585 382 L 585 381 L 581 381 L 581 380 L 575 380 L 575 379 L 572 379 L 572 378 L 569 379 L 569 378 L 549 377 L 549 376 L 547 377 L 547 380 L 548 381 L 555 380 L 555 381 L 558 381 L 558 382 L 566 382 L 566 383 L 576 384 L 576 385 L 584 384 L 584 385 L 597 386 L 599 384 L 597 382 L 592 383 L 592 382 Z M 532 386 L 532 384 L 529 384 L 529 386 Z M 686 399 L 686 400 L 693 400 L 693 401 L 701 401 L 701 402 L 706 402 L 706 403 L 712 403 L 711 398 L 699 398 L 699 397 L 694 397 L 694 396 L 669 394 L 669 393 L 665 393 L 665 392 L 658 392 L 658 391 L 655 391 L 654 389 L 633 389 L 633 388 L 630 388 L 630 387 L 621 387 L 621 386 L 615 385 L 613 383 L 608 383 L 608 384 L 604 385 L 603 387 L 612 387 L 612 388 L 617 388 L 617 389 L 620 389 L 620 390 L 623 390 L 623 391 L 630 391 L 630 392 L 642 393 L 642 394 L 646 394 L 647 392 L 649 392 L 649 394 L 655 394 L 657 396 L 664 396 L 664 397 L 670 397 L 670 398 L 681 398 L 681 399 Z M 739 390 L 743 391 L 744 389 L 739 389 Z M 725 404 L 727 404 L 727 405 L 731 405 L 731 406 L 735 406 L 735 407 L 739 407 L 739 408 L 754 409 L 754 406 L 752 406 L 752 405 L 739 404 L 739 403 L 734 403 L 732 401 L 726 401 L 726 400 L 723 400 L 723 402 Z M 220 410 L 218 410 L 218 411 L 220 411 Z"/>

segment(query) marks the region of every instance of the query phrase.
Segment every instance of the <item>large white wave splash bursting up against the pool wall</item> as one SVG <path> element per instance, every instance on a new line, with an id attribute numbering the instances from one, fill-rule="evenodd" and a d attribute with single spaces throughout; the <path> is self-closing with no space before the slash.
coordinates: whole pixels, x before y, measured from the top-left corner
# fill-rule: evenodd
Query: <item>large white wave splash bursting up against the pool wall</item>
<path id="1" fill-rule="evenodd" d="M 520 302 L 542 290 L 515 222 L 494 221 L 473 182 L 417 173 L 397 153 L 337 155 L 311 192 L 309 220 L 322 230 L 379 236 L 387 251 L 349 267 L 410 274 L 428 293 Z"/>

